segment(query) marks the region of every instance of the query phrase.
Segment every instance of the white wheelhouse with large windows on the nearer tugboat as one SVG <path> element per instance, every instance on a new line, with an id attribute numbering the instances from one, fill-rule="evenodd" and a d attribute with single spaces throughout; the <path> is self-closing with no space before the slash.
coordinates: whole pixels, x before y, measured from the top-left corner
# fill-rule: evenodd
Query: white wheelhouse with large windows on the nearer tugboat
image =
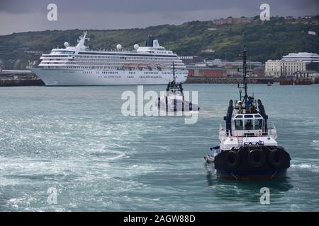
<path id="1" fill-rule="evenodd" d="M 262 136 L 264 118 L 261 114 L 234 114 L 232 117 L 232 133 L 235 136 Z"/>

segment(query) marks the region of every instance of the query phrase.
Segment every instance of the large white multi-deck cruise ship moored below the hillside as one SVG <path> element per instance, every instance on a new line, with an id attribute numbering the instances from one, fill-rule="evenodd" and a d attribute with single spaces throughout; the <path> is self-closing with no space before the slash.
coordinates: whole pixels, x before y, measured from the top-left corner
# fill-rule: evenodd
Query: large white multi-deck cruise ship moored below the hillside
<path id="1" fill-rule="evenodd" d="M 77 46 L 52 49 L 40 57 L 40 64 L 30 70 L 45 85 L 146 85 L 173 81 L 173 64 L 178 83 L 184 83 L 188 70 L 177 54 L 159 45 L 151 35 L 145 47 L 134 45 L 128 51 L 121 44 L 111 50 L 90 50 L 84 45 L 87 32 Z"/>

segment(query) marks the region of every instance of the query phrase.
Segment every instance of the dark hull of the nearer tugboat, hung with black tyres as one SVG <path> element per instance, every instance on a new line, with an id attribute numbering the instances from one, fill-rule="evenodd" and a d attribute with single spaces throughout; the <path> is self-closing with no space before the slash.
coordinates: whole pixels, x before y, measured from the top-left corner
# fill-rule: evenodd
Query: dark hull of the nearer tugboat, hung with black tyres
<path id="1" fill-rule="evenodd" d="M 212 149 L 213 150 L 213 149 Z M 214 150 L 206 155 L 216 177 L 230 179 L 272 179 L 285 177 L 290 155 L 279 146 L 247 145 L 231 150 Z"/>

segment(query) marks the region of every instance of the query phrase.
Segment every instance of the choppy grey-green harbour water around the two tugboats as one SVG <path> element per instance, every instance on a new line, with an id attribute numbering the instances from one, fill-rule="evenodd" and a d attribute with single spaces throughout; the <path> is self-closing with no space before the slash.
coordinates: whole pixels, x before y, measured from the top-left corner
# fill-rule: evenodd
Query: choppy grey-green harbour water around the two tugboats
<path id="1" fill-rule="evenodd" d="M 124 117 L 125 90 L 137 86 L 0 88 L 0 210 L 319 210 L 318 85 L 250 85 L 292 158 L 286 179 L 259 182 L 217 179 L 203 160 L 236 85 L 184 85 L 198 90 L 196 124 Z"/>

